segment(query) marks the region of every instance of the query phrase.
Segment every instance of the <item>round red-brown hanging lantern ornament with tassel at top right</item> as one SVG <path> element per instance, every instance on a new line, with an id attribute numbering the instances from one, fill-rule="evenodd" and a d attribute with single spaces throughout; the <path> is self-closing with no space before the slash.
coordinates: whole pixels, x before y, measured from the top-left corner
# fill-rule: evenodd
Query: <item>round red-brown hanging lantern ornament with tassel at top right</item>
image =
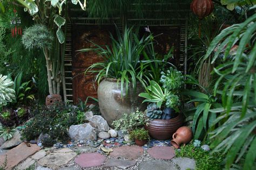
<path id="1" fill-rule="evenodd" d="M 199 38 L 201 36 L 201 19 L 210 15 L 213 8 L 212 0 L 193 0 L 190 5 L 191 11 L 199 18 Z"/>

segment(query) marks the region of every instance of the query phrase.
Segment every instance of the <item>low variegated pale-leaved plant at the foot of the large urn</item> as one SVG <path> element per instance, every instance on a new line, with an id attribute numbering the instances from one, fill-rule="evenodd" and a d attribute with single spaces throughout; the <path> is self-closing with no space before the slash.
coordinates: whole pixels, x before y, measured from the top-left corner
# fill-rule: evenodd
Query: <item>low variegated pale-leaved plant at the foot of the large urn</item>
<path id="1" fill-rule="evenodd" d="M 112 125 L 116 130 L 131 131 L 143 126 L 146 123 L 145 115 L 138 109 L 131 114 L 123 114 L 122 118 L 113 121 Z"/>

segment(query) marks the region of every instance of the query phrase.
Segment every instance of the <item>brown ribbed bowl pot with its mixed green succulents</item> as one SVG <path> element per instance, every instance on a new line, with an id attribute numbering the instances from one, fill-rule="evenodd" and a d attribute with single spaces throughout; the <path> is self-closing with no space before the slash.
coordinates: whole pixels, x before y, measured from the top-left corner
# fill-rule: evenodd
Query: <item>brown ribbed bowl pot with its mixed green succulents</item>
<path id="1" fill-rule="evenodd" d="M 156 81 L 150 81 L 146 92 L 139 96 L 146 98 L 143 102 L 149 102 L 145 113 L 151 120 L 145 125 L 145 129 L 149 130 L 152 138 L 166 140 L 183 124 L 183 116 L 179 111 L 179 91 L 184 77 L 172 67 L 161 74 L 160 82 L 163 86 Z"/>

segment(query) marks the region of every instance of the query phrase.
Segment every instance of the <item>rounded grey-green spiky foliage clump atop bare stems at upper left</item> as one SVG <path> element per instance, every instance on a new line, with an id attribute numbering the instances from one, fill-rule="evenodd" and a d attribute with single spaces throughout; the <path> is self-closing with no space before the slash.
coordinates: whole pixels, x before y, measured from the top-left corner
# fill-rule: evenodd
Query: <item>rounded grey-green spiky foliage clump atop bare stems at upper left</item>
<path id="1" fill-rule="evenodd" d="M 24 30 L 22 43 L 25 48 L 51 48 L 53 36 L 46 26 L 35 24 Z"/>

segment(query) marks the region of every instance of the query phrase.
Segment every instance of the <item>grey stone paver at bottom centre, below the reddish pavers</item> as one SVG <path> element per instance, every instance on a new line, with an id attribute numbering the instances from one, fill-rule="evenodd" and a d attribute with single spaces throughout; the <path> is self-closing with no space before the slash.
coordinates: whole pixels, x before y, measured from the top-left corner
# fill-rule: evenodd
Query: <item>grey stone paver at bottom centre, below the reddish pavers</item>
<path id="1" fill-rule="evenodd" d="M 104 167 L 118 167 L 126 169 L 136 164 L 136 161 L 122 160 L 122 159 L 108 159 Z"/>

